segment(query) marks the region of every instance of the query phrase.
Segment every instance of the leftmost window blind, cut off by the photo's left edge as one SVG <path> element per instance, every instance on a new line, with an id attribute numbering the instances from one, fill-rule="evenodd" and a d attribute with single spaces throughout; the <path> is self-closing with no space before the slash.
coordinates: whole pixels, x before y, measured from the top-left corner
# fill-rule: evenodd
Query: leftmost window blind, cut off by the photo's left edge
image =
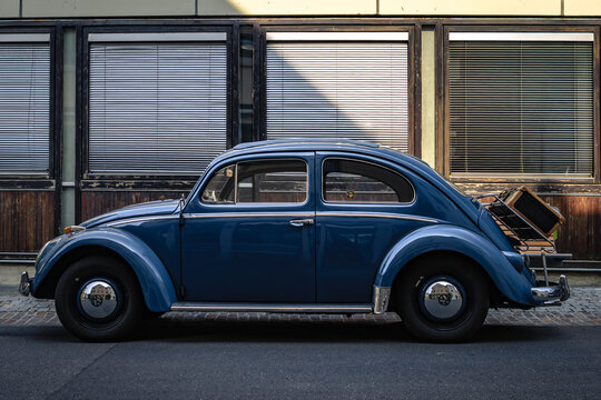
<path id="1" fill-rule="evenodd" d="M 47 173 L 50 44 L 0 42 L 0 173 Z"/>

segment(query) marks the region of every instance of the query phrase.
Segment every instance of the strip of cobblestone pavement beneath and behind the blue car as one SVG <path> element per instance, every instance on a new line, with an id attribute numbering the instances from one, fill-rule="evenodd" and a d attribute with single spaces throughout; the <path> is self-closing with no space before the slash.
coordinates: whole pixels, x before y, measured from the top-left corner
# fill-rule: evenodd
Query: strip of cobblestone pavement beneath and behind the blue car
<path id="1" fill-rule="evenodd" d="M 391 323 L 400 321 L 395 313 L 384 316 L 356 314 L 284 314 L 263 312 L 168 312 L 160 323 L 194 323 L 211 321 L 255 322 L 351 322 Z M 53 300 L 31 297 L 0 297 L 0 324 L 59 324 Z M 561 307 L 533 310 L 492 309 L 486 324 L 519 326 L 601 326 L 601 288 L 572 288 L 572 297 Z"/>

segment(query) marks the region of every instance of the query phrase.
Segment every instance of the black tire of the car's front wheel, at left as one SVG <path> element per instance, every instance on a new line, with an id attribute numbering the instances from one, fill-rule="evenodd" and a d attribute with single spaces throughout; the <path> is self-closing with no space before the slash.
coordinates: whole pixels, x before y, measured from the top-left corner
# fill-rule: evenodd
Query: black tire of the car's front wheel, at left
<path id="1" fill-rule="evenodd" d="M 110 294 L 95 294 L 93 302 L 80 301 L 81 291 L 98 287 L 98 282 L 112 290 L 112 299 Z M 124 262 L 108 257 L 88 257 L 70 266 L 60 277 L 55 300 L 62 326 L 85 341 L 122 340 L 138 326 L 145 312 L 134 271 Z M 89 304 L 98 308 L 104 302 L 110 310 L 100 310 L 106 316 L 92 317 L 86 312 L 95 311 Z"/>

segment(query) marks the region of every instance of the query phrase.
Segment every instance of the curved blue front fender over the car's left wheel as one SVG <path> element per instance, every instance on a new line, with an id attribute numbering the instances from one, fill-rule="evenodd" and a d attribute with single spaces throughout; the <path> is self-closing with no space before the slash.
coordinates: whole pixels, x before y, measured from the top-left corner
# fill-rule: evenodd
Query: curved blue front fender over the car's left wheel
<path id="1" fill-rule="evenodd" d="M 144 300 L 151 311 L 169 311 L 177 301 L 171 278 L 157 254 L 137 237 L 112 228 L 63 234 L 51 240 L 40 251 L 36 261 L 33 294 L 45 284 L 50 270 L 63 257 L 83 246 L 104 247 L 121 256 L 138 277 Z"/>

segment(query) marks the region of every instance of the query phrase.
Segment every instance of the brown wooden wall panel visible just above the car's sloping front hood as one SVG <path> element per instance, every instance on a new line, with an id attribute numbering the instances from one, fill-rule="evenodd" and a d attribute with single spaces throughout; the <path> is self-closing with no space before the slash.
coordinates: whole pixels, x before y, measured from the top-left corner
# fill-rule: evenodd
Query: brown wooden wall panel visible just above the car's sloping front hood
<path id="1" fill-rule="evenodd" d="M 81 221 L 111 210 L 146 201 L 179 199 L 183 191 L 83 191 L 81 193 Z"/>

